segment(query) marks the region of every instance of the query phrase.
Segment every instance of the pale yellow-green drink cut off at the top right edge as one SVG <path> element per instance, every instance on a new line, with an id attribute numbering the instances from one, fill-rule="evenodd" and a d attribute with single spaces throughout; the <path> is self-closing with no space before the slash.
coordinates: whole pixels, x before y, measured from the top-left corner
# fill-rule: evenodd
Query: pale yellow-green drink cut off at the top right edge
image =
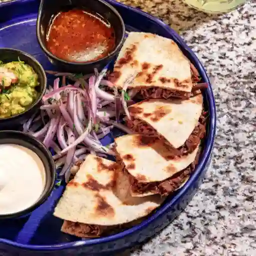
<path id="1" fill-rule="evenodd" d="M 246 0 L 184 0 L 184 2 L 204 12 L 221 13 L 235 9 Z"/>

